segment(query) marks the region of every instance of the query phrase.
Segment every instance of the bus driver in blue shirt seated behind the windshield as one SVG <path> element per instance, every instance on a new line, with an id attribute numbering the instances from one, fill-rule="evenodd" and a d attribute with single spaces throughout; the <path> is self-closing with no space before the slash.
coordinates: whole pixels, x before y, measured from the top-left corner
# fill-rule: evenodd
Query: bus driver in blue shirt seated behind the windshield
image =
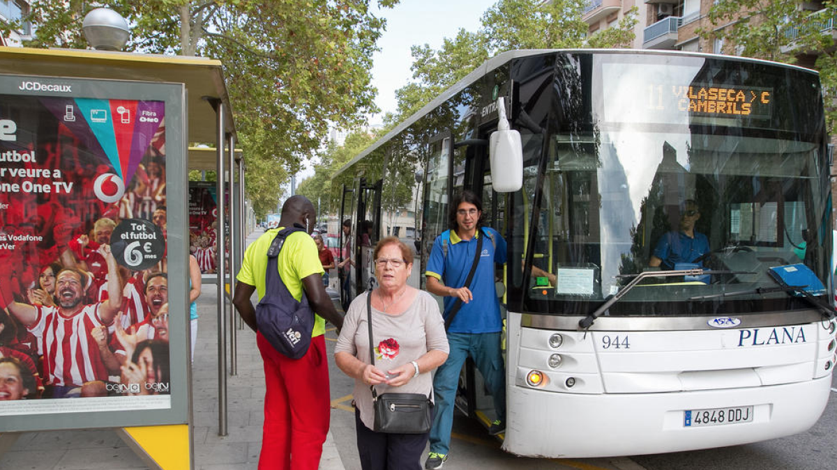
<path id="1" fill-rule="evenodd" d="M 657 242 L 648 265 L 663 269 L 676 269 L 677 263 L 693 263 L 709 253 L 706 235 L 695 231 L 695 223 L 701 218 L 697 202 L 687 200 L 680 212 L 680 230 L 666 233 Z M 701 263 L 702 264 L 702 263 Z"/>

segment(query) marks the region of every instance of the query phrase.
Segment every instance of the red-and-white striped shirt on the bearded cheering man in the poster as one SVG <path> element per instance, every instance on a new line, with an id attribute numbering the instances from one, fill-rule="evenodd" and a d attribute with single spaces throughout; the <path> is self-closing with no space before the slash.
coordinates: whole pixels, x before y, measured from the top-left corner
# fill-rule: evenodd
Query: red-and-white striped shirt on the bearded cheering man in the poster
<path id="1" fill-rule="evenodd" d="M 103 326 L 99 304 L 85 305 L 70 318 L 56 307 L 35 305 L 38 317 L 29 327 L 44 348 L 44 379 L 54 386 L 81 386 L 106 381 L 108 374 L 90 330 Z"/>

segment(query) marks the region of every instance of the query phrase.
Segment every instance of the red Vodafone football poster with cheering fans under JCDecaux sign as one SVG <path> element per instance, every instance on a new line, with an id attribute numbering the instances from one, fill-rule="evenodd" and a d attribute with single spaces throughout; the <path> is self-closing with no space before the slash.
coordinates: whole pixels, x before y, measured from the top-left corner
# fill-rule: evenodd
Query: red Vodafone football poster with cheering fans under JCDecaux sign
<path id="1" fill-rule="evenodd" d="M 170 409 L 166 102 L 3 83 L 0 421 Z"/>

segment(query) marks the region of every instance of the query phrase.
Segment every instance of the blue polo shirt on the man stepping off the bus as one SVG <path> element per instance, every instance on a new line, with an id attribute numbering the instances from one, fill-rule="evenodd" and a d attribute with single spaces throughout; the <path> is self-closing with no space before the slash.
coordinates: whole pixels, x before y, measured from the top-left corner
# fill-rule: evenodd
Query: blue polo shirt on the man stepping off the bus
<path id="1" fill-rule="evenodd" d="M 482 242 L 482 254 L 480 263 L 477 264 L 474 278 L 471 280 L 471 294 L 474 294 L 468 304 L 462 304 L 460 311 L 456 314 L 453 323 L 450 324 L 450 333 L 496 333 L 503 328 L 500 318 L 500 302 L 497 300 L 497 293 L 494 287 L 494 263 L 506 263 L 506 240 L 500 233 L 490 227 L 482 227 L 480 230 L 490 232 L 494 237 L 494 243 L 490 238 Z M 474 263 L 477 238 L 483 234 L 477 232 L 476 237 L 468 241 L 462 240 L 455 231 L 449 230 L 450 241 L 448 243 L 448 256 L 444 257 L 442 248 L 443 235 L 439 235 L 433 243 L 430 258 L 427 262 L 426 276 L 433 276 L 451 288 L 460 288 L 465 285 L 471 265 Z M 496 248 L 494 244 L 496 243 Z M 453 307 L 457 297 L 444 297 L 444 317 Z"/>

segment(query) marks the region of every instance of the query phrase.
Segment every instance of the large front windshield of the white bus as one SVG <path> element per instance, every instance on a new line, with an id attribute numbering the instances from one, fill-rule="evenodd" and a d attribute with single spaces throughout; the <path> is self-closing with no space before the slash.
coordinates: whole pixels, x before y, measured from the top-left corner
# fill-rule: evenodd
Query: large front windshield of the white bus
<path id="1" fill-rule="evenodd" d="M 793 264 L 829 285 L 816 76 L 757 62 L 620 57 L 582 61 L 578 75 L 593 85 L 578 89 L 577 104 L 555 100 L 588 126 L 524 132 L 510 258 L 531 273 L 512 275 L 523 310 L 587 314 L 636 273 L 690 268 L 706 273 L 646 278 L 608 314 L 810 309 L 766 288 L 778 285 L 770 268 Z"/>

